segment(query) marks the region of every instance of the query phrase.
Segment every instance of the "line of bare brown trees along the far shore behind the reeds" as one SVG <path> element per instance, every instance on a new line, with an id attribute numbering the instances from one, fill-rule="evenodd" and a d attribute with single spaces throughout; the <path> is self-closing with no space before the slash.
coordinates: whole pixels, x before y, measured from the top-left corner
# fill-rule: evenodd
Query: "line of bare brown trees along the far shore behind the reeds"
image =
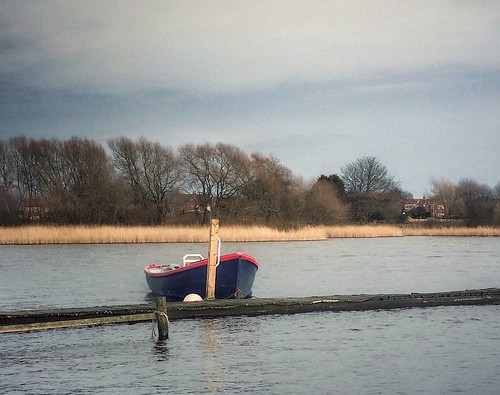
<path id="1" fill-rule="evenodd" d="M 449 184 L 432 185 L 450 218 L 474 212 L 472 225 L 500 222 L 500 183 L 494 189 L 474 180 Z M 144 137 L 113 138 L 105 146 L 77 137 L 0 140 L 3 226 L 203 224 L 210 217 L 283 228 L 397 223 L 408 197 L 374 157 L 306 182 L 272 155 L 224 143 L 174 150 Z"/>

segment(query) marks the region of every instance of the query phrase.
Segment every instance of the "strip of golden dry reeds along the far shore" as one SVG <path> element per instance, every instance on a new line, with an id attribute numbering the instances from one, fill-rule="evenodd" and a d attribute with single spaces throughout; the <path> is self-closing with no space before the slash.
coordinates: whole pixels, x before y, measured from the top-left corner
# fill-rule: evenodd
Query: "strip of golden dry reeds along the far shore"
<path id="1" fill-rule="evenodd" d="M 263 226 L 221 226 L 225 241 L 300 241 L 401 236 L 500 236 L 500 228 L 406 228 L 394 225 L 316 226 L 279 230 Z M 23 226 L 0 228 L 0 244 L 106 244 L 208 242 L 199 226 Z"/>

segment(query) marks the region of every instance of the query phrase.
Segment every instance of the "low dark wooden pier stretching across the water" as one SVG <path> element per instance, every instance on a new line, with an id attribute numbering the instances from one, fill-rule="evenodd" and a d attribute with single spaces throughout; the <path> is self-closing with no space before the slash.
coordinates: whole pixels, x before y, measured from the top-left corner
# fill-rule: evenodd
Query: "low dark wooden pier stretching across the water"
<path id="1" fill-rule="evenodd" d="M 168 303 L 168 319 L 499 304 L 500 288 L 411 294 L 226 299 Z M 157 317 L 155 304 L 4 311 L 0 312 L 0 333 L 135 323 Z"/>

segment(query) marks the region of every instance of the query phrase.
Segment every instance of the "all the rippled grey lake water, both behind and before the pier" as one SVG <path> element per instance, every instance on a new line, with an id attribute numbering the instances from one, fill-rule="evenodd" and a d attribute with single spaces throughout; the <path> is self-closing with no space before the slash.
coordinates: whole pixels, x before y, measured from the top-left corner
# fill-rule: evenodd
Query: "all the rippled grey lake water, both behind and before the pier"
<path id="1" fill-rule="evenodd" d="M 149 301 L 143 266 L 204 244 L 0 246 L 0 310 Z M 500 286 L 500 238 L 225 243 L 257 297 Z M 178 320 L 0 335 L 0 393 L 497 394 L 498 306 Z"/>

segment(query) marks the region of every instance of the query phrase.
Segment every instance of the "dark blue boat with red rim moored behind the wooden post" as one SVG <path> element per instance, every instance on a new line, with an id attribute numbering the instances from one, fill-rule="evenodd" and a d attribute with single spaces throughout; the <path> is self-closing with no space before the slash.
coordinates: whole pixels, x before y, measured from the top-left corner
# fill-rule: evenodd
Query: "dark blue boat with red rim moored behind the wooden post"
<path id="1" fill-rule="evenodd" d="M 144 268 L 153 294 L 168 301 L 183 300 L 189 294 L 206 298 L 208 259 L 185 255 L 182 265 L 150 264 Z M 215 277 L 216 299 L 243 299 L 252 296 L 252 286 L 259 264 L 254 257 L 234 252 L 219 256 Z"/>

